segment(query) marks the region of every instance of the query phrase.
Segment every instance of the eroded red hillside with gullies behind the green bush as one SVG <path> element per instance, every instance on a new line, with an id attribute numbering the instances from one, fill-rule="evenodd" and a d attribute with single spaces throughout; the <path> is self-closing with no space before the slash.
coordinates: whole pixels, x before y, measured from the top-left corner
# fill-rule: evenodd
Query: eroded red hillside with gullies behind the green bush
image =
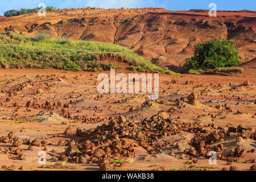
<path id="1" fill-rule="evenodd" d="M 0 32 L 15 31 L 26 36 L 46 33 L 56 38 L 96 40 L 129 47 L 161 67 L 182 71 L 193 47 L 213 38 L 233 39 L 241 61 L 255 53 L 255 11 L 165 9 L 63 9 L 38 14 L 0 17 Z"/>

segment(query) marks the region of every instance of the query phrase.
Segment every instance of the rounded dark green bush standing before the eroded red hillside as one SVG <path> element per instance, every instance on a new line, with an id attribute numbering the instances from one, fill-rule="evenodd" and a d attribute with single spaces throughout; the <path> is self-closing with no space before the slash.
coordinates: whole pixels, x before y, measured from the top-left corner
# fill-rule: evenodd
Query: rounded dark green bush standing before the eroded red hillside
<path id="1" fill-rule="evenodd" d="M 233 40 L 218 38 L 197 44 L 194 56 L 186 59 L 184 65 L 189 71 L 232 67 L 240 63 Z"/>

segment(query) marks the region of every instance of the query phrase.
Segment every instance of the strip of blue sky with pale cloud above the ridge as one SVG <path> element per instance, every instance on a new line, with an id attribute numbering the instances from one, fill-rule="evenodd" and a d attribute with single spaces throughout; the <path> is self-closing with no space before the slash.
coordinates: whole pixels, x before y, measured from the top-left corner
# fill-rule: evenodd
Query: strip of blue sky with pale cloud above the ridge
<path id="1" fill-rule="evenodd" d="M 11 9 L 34 8 L 39 3 L 45 3 L 46 6 L 55 6 L 60 9 L 91 6 L 105 9 L 164 7 L 167 10 L 209 9 L 209 3 L 216 3 L 217 10 L 256 10 L 255 0 L 0 0 L 0 15 Z"/>

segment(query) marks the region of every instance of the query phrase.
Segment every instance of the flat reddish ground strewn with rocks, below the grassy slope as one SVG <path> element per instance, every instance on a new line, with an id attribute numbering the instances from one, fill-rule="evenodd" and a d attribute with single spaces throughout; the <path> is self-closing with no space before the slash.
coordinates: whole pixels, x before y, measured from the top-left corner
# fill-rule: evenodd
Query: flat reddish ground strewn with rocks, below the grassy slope
<path id="1" fill-rule="evenodd" d="M 150 101 L 98 94 L 101 72 L 0 69 L 0 169 L 255 170 L 256 77 L 246 71 L 161 74 Z"/>

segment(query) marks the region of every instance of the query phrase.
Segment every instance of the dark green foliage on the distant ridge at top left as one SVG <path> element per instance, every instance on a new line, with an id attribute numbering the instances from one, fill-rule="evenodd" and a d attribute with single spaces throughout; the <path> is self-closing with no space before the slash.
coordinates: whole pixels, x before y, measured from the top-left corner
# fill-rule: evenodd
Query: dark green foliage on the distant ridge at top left
<path id="1" fill-rule="evenodd" d="M 38 13 L 38 11 L 41 9 L 41 7 L 35 7 L 34 9 L 26 9 L 22 8 L 20 10 L 9 10 L 3 13 L 3 15 L 10 17 L 10 16 L 18 16 L 18 15 L 24 15 L 24 14 L 30 14 L 30 13 Z M 55 10 L 56 7 L 53 6 L 47 6 L 46 11 L 52 11 Z"/>

